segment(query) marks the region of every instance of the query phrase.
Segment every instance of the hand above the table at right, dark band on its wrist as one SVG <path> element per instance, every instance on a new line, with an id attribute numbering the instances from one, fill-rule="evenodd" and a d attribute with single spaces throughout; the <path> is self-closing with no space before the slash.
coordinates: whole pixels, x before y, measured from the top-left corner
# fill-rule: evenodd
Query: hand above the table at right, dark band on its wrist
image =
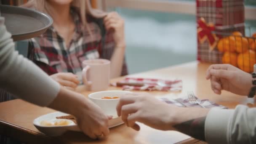
<path id="1" fill-rule="evenodd" d="M 216 94 L 221 90 L 247 96 L 252 85 L 252 76 L 230 64 L 213 64 L 206 72 L 206 79 L 211 80 L 211 88 Z"/>

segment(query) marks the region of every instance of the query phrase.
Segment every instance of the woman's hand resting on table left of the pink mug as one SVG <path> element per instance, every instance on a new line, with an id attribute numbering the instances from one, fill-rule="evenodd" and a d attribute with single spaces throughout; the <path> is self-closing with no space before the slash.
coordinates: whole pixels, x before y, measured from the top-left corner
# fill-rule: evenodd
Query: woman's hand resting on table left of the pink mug
<path id="1" fill-rule="evenodd" d="M 70 90 L 75 90 L 80 81 L 77 79 L 77 75 L 74 75 L 70 72 L 59 72 L 50 77 L 58 82 L 60 85 L 68 88 Z"/>

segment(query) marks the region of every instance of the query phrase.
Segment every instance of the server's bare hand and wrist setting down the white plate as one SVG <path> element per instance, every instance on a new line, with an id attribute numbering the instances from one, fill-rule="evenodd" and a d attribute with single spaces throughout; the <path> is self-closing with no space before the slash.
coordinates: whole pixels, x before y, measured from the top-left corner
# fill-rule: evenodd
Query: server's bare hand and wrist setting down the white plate
<path id="1" fill-rule="evenodd" d="M 108 120 L 112 117 L 105 115 L 99 106 L 80 93 L 61 87 L 48 107 L 74 115 L 79 128 L 92 139 L 109 134 Z"/>

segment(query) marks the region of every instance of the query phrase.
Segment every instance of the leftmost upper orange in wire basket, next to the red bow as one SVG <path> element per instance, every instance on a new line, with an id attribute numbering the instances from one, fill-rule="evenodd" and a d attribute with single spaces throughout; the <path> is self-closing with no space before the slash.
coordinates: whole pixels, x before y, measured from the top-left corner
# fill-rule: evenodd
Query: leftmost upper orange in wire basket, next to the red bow
<path id="1" fill-rule="evenodd" d="M 235 37 L 229 36 L 219 40 L 217 48 L 220 52 L 235 52 Z"/>

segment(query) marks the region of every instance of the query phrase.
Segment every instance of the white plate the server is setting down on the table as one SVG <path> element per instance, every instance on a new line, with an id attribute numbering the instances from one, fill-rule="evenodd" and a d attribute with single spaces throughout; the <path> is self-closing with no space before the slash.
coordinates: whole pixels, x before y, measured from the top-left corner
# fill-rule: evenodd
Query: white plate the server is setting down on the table
<path id="1" fill-rule="evenodd" d="M 81 131 L 80 128 L 78 128 L 78 126 L 71 120 L 69 125 L 64 125 L 64 126 L 43 126 L 40 124 L 43 120 L 46 120 L 49 122 L 61 120 L 61 119 L 56 119 L 56 117 L 64 116 L 64 115 L 68 115 L 68 114 L 63 112 L 53 112 L 46 115 L 42 115 L 40 117 L 37 117 L 33 121 L 33 124 L 39 131 L 47 134 L 48 136 L 60 136 L 61 134 L 67 131 Z M 112 128 L 121 124 L 123 124 L 123 120 L 121 119 L 121 117 L 116 116 L 111 120 L 109 120 L 109 128 Z"/>

